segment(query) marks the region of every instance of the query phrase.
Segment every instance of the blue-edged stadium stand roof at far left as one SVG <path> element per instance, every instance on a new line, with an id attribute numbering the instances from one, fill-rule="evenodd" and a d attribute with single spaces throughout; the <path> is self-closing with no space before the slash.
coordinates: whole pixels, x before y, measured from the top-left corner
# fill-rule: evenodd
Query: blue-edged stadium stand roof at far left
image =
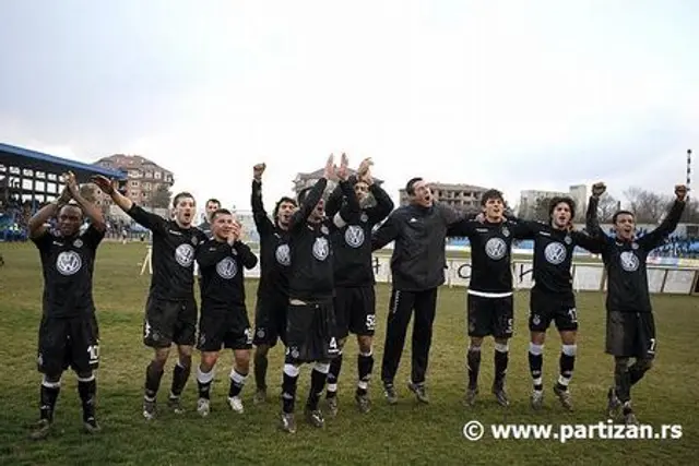
<path id="1" fill-rule="evenodd" d="M 79 182 L 90 181 L 90 177 L 93 175 L 103 175 L 119 180 L 127 178 L 127 174 L 123 171 L 110 170 L 97 165 L 70 160 L 68 158 L 3 143 L 0 143 L 0 165 L 4 165 L 5 167 L 31 168 L 38 171 L 54 172 L 56 175 L 71 170 L 75 174 Z"/>

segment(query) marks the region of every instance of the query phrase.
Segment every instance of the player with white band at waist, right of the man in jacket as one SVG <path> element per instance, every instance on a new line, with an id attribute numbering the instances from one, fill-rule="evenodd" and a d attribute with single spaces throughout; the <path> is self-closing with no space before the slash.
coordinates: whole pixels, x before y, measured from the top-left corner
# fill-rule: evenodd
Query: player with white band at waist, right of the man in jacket
<path id="1" fill-rule="evenodd" d="M 467 237 L 471 242 L 471 283 L 467 291 L 467 325 L 471 339 L 466 356 L 469 386 L 466 404 L 478 394 L 481 346 L 483 338 L 495 339 L 495 380 L 493 394 L 501 406 L 509 406 L 505 375 L 509 361 L 514 310 L 512 297 L 512 240 L 526 238 L 529 228 L 505 217 L 502 193 L 491 189 L 483 193 L 481 206 L 485 219 L 463 219 L 449 228 L 450 237 Z"/>

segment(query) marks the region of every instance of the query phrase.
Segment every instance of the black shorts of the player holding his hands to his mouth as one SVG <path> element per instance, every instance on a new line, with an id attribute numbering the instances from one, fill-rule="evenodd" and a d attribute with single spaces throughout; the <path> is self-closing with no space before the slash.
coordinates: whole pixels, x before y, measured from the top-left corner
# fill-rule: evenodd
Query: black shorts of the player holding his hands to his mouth
<path id="1" fill-rule="evenodd" d="M 220 351 L 222 347 L 252 348 L 252 328 L 250 328 L 248 311 L 245 308 L 232 311 L 202 309 L 197 349 Z"/>

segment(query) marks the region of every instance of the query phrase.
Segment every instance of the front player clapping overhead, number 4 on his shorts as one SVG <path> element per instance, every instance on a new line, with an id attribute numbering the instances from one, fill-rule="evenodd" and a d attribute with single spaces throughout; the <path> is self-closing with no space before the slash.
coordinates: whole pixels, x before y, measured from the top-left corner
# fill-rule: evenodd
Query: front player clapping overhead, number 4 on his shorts
<path id="1" fill-rule="evenodd" d="M 328 179 L 340 178 L 347 207 L 335 214 L 331 220 L 325 217 L 323 192 Z M 289 306 L 286 327 L 286 358 L 282 382 L 282 430 L 296 432 L 294 404 L 298 384 L 299 366 L 315 362 L 311 371 L 310 393 L 306 403 L 306 418 L 315 427 L 324 425 L 318 408 L 323 394 L 330 360 L 337 355 L 333 295 L 333 251 L 330 239 L 334 223 L 346 223 L 351 215 L 359 211 L 359 203 L 353 195 L 347 181 L 347 157 L 343 154 L 340 168 L 335 168 L 333 156 L 328 158 L 323 178 L 299 193 L 300 208 L 292 217 L 289 225 L 292 272 L 289 275 Z"/>

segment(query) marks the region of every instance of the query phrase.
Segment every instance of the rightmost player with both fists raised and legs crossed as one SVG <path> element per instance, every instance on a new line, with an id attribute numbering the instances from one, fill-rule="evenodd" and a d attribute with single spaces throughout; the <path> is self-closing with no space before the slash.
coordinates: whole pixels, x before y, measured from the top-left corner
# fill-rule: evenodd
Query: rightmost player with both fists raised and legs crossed
<path id="1" fill-rule="evenodd" d="M 675 187 L 676 199 L 667 216 L 657 228 L 640 238 L 635 236 L 633 213 L 628 211 L 614 214 L 614 238 L 600 228 L 597 203 L 605 190 L 604 183 L 593 184 L 587 224 L 590 235 L 600 240 L 607 272 L 606 353 L 615 360 L 615 386 L 607 393 L 607 408 L 609 417 L 614 418 L 623 407 L 625 422 L 635 425 L 638 421 L 631 407 L 631 386 L 651 368 L 657 343 L 645 261 L 648 254 L 677 228 L 685 208 L 687 187 Z M 629 367 L 630 358 L 635 358 L 635 362 Z"/>

